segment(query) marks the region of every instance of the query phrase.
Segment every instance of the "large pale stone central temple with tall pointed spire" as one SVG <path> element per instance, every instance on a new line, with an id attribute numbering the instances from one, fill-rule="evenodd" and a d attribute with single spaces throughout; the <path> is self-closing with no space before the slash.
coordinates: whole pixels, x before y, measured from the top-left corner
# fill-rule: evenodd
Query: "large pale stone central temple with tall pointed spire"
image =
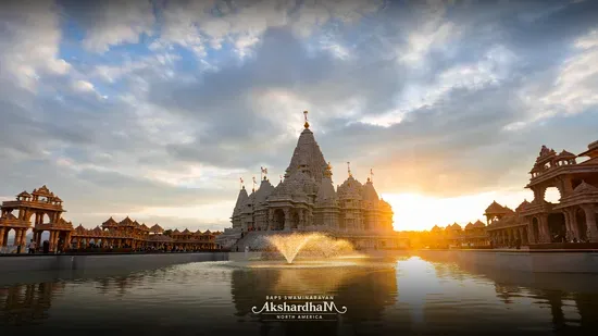
<path id="1" fill-rule="evenodd" d="M 273 186 L 263 176 L 250 194 L 245 186 L 233 210 L 233 227 L 219 239 L 233 246 L 244 232 L 329 232 L 358 247 L 396 247 L 393 209 L 382 200 L 371 176 L 356 179 L 348 164 L 346 181 L 333 184 L 326 162 L 307 120 L 284 179 Z M 264 172 L 264 170 L 262 170 Z M 267 171 L 265 171 L 267 172 Z"/>

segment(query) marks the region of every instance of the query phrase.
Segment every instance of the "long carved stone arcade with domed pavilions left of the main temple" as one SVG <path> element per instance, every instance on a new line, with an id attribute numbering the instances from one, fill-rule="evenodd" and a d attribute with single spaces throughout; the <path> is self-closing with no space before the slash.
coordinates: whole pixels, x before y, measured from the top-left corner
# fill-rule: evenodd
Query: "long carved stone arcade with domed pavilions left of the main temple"
<path id="1" fill-rule="evenodd" d="M 20 252 L 26 252 L 29 228 L 33 229 L 32 239 L 36 241 L 37 249 L 43 250 L 46 242 L 48 252 L 89 249 L 195 251 L 220 248 L 215 242 L 220 232 L 164 231 L 158 224 L 148 226 L 128 216 L 120 222 L 110 217 L 95 228 L 85 228 L 80 224 L 74 227 L 72 222 L 62 217 L 66 212 L 62 199 L 46 186 L 34 189 L 30 194 L 23 191 L 15 200 L 2 202 L 0 208 L 0 248 L 8 247 L 9 233 L 13 231 L 12 247 L 20 247 Z M 45 232 L 49 233 L 48 238 L 42 239 Z"/>

